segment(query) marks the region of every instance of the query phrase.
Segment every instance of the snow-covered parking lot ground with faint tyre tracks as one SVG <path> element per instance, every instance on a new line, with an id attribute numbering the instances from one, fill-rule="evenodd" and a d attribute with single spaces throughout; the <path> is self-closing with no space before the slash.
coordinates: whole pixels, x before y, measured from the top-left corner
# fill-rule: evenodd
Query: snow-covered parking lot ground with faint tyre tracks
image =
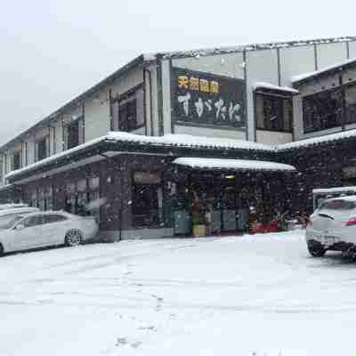
<path id="1" fill-rule="evenodd" d="M 354 352 L 356 264 L 303 231 L 7 255 L 0 286 L 0 356 Z"/>

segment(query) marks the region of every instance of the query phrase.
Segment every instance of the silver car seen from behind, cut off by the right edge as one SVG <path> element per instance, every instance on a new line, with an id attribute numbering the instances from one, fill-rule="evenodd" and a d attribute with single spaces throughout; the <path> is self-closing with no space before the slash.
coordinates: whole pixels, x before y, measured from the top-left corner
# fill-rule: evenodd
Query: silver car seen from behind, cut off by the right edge
<path id="1" fill-rule="evenodd" d="M 356 256 L 356 196 L 325 200 L 310 217 L 306 242 L 314 257 L 328 250 Z"/>

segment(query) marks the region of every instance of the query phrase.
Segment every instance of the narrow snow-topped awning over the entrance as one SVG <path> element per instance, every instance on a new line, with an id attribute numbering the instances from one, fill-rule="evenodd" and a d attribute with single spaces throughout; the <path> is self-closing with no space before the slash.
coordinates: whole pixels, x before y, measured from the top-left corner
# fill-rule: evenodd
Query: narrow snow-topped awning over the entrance
<path id="1" fill-rule="evenodd" d="M 206 170 L 296 172 L 294 166 L 247 159 L 175 158 L 173 163 L 174 165 Z"/>

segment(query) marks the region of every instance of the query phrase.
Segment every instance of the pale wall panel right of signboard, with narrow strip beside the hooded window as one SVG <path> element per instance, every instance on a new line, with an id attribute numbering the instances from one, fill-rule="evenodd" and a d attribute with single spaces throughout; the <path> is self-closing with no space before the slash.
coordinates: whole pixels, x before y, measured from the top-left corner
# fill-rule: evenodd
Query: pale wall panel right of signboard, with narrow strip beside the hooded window
<path id="1" fill-rule="evenodd" d="M 277 50 L 247 52 L 247 118 L 248 140 L 255 141 L 253 85 L 268 82 L 279 85 Z"/>

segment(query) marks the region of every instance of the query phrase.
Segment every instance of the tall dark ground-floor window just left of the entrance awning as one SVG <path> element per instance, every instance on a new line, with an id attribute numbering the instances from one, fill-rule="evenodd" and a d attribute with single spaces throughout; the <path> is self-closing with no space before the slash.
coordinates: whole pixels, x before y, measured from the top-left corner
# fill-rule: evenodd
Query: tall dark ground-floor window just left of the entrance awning
<path id="1" fill-rule="evenodd" d="M 132 214 L 134 227 L 159 226 L 162 219 L 163 190 L 158 174 L 134 172 Z"/>

